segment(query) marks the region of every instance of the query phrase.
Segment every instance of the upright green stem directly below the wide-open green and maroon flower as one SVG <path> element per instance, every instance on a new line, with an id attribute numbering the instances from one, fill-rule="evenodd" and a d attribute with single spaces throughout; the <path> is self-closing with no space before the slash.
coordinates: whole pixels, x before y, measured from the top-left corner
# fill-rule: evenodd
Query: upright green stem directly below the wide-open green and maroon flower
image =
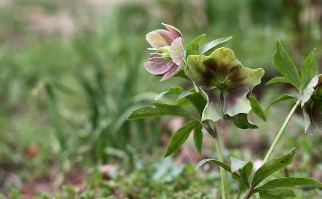
<path id="1" fill-rule="evenodd" d="M 221 146 L 217 134 L 217 124 L 214 124 L 214 129 L 211 128 L 209 123 L 204 122 L 204 128 L 208 131 L 208 133 L 213 137 L 216 145 L 216 150 L 218 154 L 218 160 L 220 162 L 223 162 L 222 158 L 222 151 L 221 151 Z M 226 176 L 225 176 L 225 169 L 220 167 L 220 177 L 221 177 L 221 192 L 222 192 L 222 199 L 227 198 L 227 187 L 226 187 Z"/>

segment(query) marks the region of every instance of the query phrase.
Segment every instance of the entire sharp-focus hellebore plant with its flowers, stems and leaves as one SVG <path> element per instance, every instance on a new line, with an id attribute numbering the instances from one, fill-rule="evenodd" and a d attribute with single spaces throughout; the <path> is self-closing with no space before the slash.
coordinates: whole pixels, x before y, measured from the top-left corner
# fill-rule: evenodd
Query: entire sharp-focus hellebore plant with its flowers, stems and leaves
<path id="1" fill-rule="evenodd" d="M 270 156 L 283 134 L 296 108 L 301 105 L 305 120 L 305 134 L 312 134 L 315 128 L 322 129 L 322 75 L 318 75 L 317 63 L 314 53 L 311 52 L 305 59 L 301 74 L 284 51 L 279 40 L 276 42 L 274 64 L 283 76 L 271 79 L 267 84 L 284 82 L 290 83 L 298 89 L 298 95 L 283 94 L 272 101 L 273 104 L 287 99 L 293 99 L 295 105 L 290 111 L 274 142 L 272 143 L 262 166 L 253 171 L 251 161 L 242 161 L 231 157 L 230 166 L 223 162 L 219 142 L 219 132 L 216 122 L 218 120 L 231 121 L 241 129 L 257 129 L 255 124 L 248 120 L 250 111 L 254 112 L 264 121 L 265 113 L 259 102 L 252 96 L 253 88 L 261 83 L 264 75 L 263 69 L 246 68 L 235 58 L 231 49 L 224 47 L 231 37 L 215 39 L 201 47 L 199 43 L 205 34 L 196 37 L 184 50 L 181 32 L 167 24 L 168 30 L 158 29 L 146 35 L 147 42 L 153 51 L 144 66 L 152 74 L 162 76 L 160 81 L 165 81 L 173 76 L 191 80 L 192 89 L 186 91 L 181 87 L 171 87 L 156 96 L 156 101 L 166 94 L 179 94 L 176 105 L 152 103 L 133 110 L 128 120 L 152 118 L 159 116 L 182 116 L 190 119 L 171 137 L 166 149 L 165 157 L 178 151 L 193 131 L 194 142 L 199 154 L 202 153 L 203 134 L 205 129 L 214 139 L 218 160 L 204 159 L 197 164 L 197 168 L 205 162 L 215 163 L 220 166 L 222 198 L 227 198 L 225 171 L 231 173 L 239 186 L 237 198 L 250 198 L 259 193 L 261 198 L 291 198 L 296 197 L 290 187 L 315 188 L 322 187 L 322 183 L 303 177 L 277 178 L 261 183 L 276 171 L 279 171 L 294 160 L 296 149 L 289 153 L 270 159 Z M 195 111 L 188 109 L 193 105 Z M 267 109 L 268 109 L 267 108 Z M 218 198 L 216 195 L 215 198 Z"/>

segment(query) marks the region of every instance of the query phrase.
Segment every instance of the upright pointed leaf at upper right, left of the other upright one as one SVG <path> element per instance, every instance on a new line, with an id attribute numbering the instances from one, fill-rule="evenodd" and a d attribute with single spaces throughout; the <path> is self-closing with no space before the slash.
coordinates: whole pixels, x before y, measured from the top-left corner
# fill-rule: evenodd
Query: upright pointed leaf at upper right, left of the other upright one
<path id="1" fill-rule="evenodd" d="M 276 51 L 273 60 L 276 68 L 282 73 L 286 80 L 299 89 L 301 86 L 300 76 L 298 75 L 292 59 L 284 51 L 279 40 L 276 41 Z"/>

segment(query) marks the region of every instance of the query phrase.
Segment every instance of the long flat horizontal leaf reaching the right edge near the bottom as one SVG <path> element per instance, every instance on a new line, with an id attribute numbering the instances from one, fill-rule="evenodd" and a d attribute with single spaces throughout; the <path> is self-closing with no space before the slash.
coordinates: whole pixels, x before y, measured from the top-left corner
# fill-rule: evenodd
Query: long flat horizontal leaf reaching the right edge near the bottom
<path id="1" fill-rule="evenodd" d="M 305 177 L 283 177 L 273 179 L 257 189 L 299 187 L 299 188 L 322 188 L 322 183 Z"/>

